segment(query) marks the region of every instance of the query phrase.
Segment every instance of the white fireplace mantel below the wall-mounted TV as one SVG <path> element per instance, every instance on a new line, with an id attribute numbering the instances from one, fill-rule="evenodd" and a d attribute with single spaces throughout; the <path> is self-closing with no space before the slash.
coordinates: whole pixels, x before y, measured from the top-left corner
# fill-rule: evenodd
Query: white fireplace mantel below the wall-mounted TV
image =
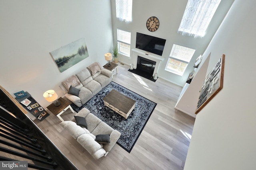
<path id="1" fill-rule="evenodd" d="M 138 56 L 144 57 L 145 59 L 155 61 L 156 62 L 156 67 L 154 69 L 153 75 L 155 73 L 157 73 L 161 61 L 164 61 L 164 58 L 161 57 L 160 55 L 156 55 L 156 54 L 153 54 L 153 53 L 148 53 L 146 51 L 143 51 L 143 50 L 140 50 L 140 49 L 137 49 L 137 48 L 132 49 L 132 55 L 134 57 L 134 61 L 136 61 L 136 63 L 134 63 L 134 68 L 137 67 Z"/>

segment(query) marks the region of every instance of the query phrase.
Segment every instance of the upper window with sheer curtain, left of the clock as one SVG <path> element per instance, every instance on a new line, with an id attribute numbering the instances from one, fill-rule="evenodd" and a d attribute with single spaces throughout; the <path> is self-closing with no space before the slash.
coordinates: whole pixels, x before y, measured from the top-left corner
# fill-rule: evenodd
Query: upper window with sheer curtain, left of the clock
<path id="1" fill-rule="evenodd" d="M 116 0 L 116 18 L 120 21 L 132 21 L 132 0 Z"/>

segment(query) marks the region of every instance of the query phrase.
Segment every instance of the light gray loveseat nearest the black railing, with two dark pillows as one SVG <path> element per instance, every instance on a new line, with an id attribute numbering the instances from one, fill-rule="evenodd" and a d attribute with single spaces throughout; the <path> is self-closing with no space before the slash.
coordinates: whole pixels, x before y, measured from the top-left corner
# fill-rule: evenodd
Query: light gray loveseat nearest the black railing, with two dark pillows
<path id="1" fill-rule="evenodd" d="M 76 122 L 74 122 L 74 118 L 72 121 L 63 121 L 60 125 L 66 129 L 94 159 L 106 156 L 119 139 L 121 133 L 90 113 L 86 108 L 80 110 L 76 116 L 85 117 L 87 128 L 77 125 Z M 98 143 L 95 141 L 97 135 L 109 135 L 109 143 Z"/>

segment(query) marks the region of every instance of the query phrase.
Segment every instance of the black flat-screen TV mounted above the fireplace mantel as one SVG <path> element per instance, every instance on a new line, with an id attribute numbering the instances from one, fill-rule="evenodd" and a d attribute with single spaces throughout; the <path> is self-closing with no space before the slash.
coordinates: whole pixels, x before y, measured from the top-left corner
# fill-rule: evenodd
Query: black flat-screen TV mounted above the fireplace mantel
<path id="1" fill-rule="evenodd" d="M 136 48 L 162 56 L 165 41 L 166 39 L 153 37 L 142 33 L 137 33 Z"/>

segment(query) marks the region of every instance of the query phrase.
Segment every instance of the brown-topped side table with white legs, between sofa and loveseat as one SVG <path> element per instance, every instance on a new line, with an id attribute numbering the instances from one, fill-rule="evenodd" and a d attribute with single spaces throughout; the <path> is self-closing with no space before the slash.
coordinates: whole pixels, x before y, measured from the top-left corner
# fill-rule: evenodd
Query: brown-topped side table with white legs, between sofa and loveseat
<path id="1" fill-rule="evenodd" d="M 54 115 L 56 115 L 61 121 L 64 121 L 60 115 L 64 113 L 68 108 L 74 113 L 74 110 L 70 106 L 70 104 L 64 100 L 62 97 L 58 98 L 58 101 L 60 102 L 60 106 L 54 106 L 54 104 L 50 104 L 48 107 L 46 107 L 48 110 L 50 110 Z"/>

